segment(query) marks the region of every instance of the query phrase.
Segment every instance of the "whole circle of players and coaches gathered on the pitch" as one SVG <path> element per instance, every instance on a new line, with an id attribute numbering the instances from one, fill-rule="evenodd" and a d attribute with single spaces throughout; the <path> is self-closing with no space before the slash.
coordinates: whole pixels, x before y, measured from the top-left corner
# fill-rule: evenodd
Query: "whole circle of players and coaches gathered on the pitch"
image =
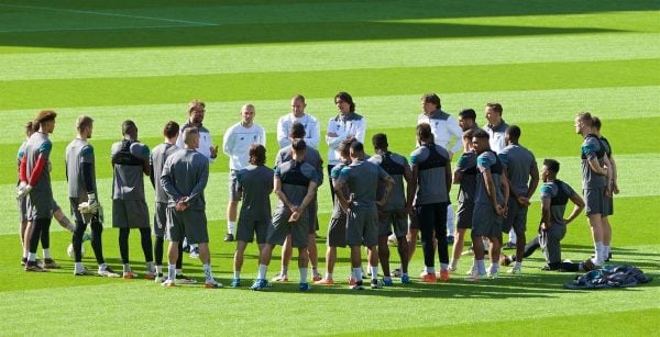
<path id="1" fill-rule="evenodd" d="M 275 168 L 266 166 L 265 131 L 254 123 L 255 108 L 241 108 L 241 121 L 223 136 L 222 151 L 229 157 L 228 233 L 226 241 L 237 240 L 232 287 L 241 285 L 243 255 L 248 243 L 256 237 L 260 258 L 257 277 L 251 289 L 271 287 L 266 271 L 276 245 L 283 246 L 282 269 L 274 281 L 288 281 L 288 263 L 293 247 L 298 248 L 299 289 L 317 284 L 333 284 L 337 248 L 350 247 L 351 289 L 364 289 L 361 247 L 366 247 L 371 288 L 392 285 L 393 277 L 409 283 L 408 262 L 421 235 L 425 269 L 422 282 L 449 281 L 462 255 L 466 231 L 470 229 L 474 255 L 468 280 L 497 278 L 499 265 L 515 263 L 512 273 L 521 272 L 522 259 L 541 247 L 548 270 L 588 270 L 609 258 L 612 229 L 612 193 L 617 193 L 616 166 L 609 144 L 600 135 L 601 122 L 590 113 L 575 117 L 575 132 L 584 137 L 582 145 L 583 199 L 557 178 L 560 164 L 546 159 L 539 175 L 534 154 L 519 144 L 521 131 L 502 119 L 498 103 L 487 103 L 487 124 L 480 128 L 476 113 L 462 110 L 458 120 L 441 110 L 440 98 L 428 93 L 421 98 L 422 114 L 416 128 L 417 145 L 409 156 L 388 150 L 387 136 L 375 134 L 373 155 L 366 155 L 364 135 L 366 120 L 355 112 L 355 103 L 346 92 L 334 97 L 338 115 L 328 123 L 324 141 L 329 146 L 328 162 L 317 150 L 320 125 L 306 112 L 305 98 L 292 99 L 292 112 L 277 122 Z M 123 141 L 112 145 L 112 226 L 119 228 L 122 273 L 114 272 L 103 259 L 101 232 L 102 207 L 97 198 L 94 147 L 88 143 L 94 121 L 79 116 L 77 137 L 66 148 L 66 177 L 73 229 L 74 274 L 90 272 L 81 263 L 85 231 L 91 227 L 91 246 L 98 262 L 97 274 L 136 278 L 129 262 L 129 234 L 139 228 L 146 261 L 146 279 L 165 287 L 197 281 L 182 271 L 184 243 L 190 255 L 199 257 L 207 288 L 222 287 L 212 274 L 209 234 L 204 190 L 208 182 L 209 164 L 218 156 L 210 132 L 202 125 L 206 104 L 194 100 L 188 104 L 188 121 L 180 127 L 168 122 L 164 142 L 152 151 L 138 141 L 134 122 L 122 124 Z M 42 111 L 26 125 L 28 141 L 19 150 L 18 196 L 21 213 L 21 238 L 24 247 L 22 263 L 28 271 L 58 268 L 50 256 L 48 231 L 57 211 L 51 189 L 48 160 L 52 144 L 48 134 L 55 127 L 56 113 Z M 451 148 L 450 143 L 453 144 Z M 463 150 L 458 167 L 451 169 L 454 154 Z M 318 271 L 316 233 L 317 189 L 328 175 L 333 212 L 328 226 L 326 273 Z M 152 246 L 148 207 L 144 198 L 144 178 L 151 178 L 155 189 L 155 244 Z M 540 176 L 540 177 L 539 177 Z M 540 188 L 542 217 L 539 235 L 526 245 L 527 207 L 542 178 Z M 452 184 L 459 184 L 458 210 L 449 199 Z M 272 212 L 270 194 L 277 205 Z M 573 211 L 564 218 L 568 201 Z M 238 205 L 241 202 L 239 216 Z M 581 263 L 561 260 L 560 241 L 565 225 L 579 216 L 586 204 L 595 254 Z M 61 212 L 61 211 L 59 211 Z M 62 213 L 62 212 L 61 212 Z M 66 216 L 64 216 L 66 220 Z M 237 223 L 238 220 L 238 223 Z M 66 220 L 64 223 L 68 222 Z M 235 232 L 235 236 L 234 236 Z M 509 245 L 516 254 L 501 255 L 503 233 L 509 233 Z M 388 237 L 396 240 L 400 269 L 389 268 Z M 36 259 L 42 241 L 44 260 Z M 167 269 L 163 269 L 164 243 Z M 449 245 L 453 244 L 450 261 Z M 491 266 L 486 271 L 488 246 Z M 436 272 L 436 251 L 440 269 Z M 378 280 L 378 265 L 383 279 Z"/>

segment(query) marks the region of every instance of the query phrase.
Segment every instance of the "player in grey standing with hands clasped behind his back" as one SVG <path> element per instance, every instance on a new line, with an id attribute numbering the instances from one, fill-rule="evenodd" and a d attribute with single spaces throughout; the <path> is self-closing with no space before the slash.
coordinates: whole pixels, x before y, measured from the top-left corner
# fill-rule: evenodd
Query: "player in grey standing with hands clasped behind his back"
<path id="1" fill-rule="evenodd" d="M 199 147 L 199 131 L 188 127 L 184 131 L 185 149 L 172 154 L 165 161 L 161 184 L 169 195 L 167 203 L 167 280 L 164 287 L 176 282 L 176 261 L 179 257 L 179 243 L 186 237 L 188 244 L 199 245 L 199 259 L 204 267 L 206 288 L 221 288 L 211 272 L 211 252 L 206 217 L 204 190 L 209 179 L 209 160 L 195 150 Z"/>

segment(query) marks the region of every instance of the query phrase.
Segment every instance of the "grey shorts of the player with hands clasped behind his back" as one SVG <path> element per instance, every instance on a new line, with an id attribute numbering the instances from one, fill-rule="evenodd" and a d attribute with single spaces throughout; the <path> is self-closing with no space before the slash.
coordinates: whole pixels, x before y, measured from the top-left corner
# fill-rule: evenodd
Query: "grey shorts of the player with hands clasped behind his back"
<path id="1" fill-rule="evenodd" d="M 208 244 L 206 212 L 197 210 L 177 212 L 174 207 L 167 207 L 166 238 L 177 243 L 186 238 L 188 245 Z"/>

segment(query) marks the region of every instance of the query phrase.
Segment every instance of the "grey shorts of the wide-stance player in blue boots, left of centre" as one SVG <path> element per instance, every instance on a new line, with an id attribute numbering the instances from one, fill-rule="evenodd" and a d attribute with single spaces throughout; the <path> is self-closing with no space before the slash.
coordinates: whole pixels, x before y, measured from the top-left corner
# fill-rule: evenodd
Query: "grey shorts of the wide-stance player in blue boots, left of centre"
<path id="1" fill-rule="evenodd" d="M 295 223 L 289 223 L 292 212 L 288 209 L 278 207 L 273 214 L 273 222 L 268 226 L 266 243 L 282 246 L 287 235 L 292 235 L 292 245 L 296 248 L 306 248 L 309 236 L 309 213 L 302 212 Z"/>

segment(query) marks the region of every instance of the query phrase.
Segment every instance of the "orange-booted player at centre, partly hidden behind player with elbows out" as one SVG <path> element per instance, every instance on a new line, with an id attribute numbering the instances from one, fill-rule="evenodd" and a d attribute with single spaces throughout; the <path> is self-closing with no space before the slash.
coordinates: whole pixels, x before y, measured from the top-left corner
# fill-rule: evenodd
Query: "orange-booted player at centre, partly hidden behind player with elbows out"
<path id="1" fill-rule="evenodd" d="M 339 154 L 341 161 L 332 168 L 330 172 L 330 181 L 332 181 L 332 186 L 339 179 L 339 173 L 341 169 L 351 164 L 351 144 L 353 142 L 346 141 L 342 142 L 339 145 Z M 343 186 L 342 190 L 344 195 L 349 194 L 349 187 L 346 184 Z M 334 195 L 336 200 L 333 200 L 333 209 L 332 215 L 330 216 L 330 223 L 328 225 L 328 238 L 326 240 L 326 276 L 316 281 L 316 284 L 322 285 L 331 285 L 334 284 L 334 279 L 332 273 L 334 272 L 334 263 L 337 262 L 337 247 L 345 248 L 346 247 L 346 212 L 341 207 L 339 201 L 337 200 L 337 194 Z M 355 284 L 355 280 L 350 277 L 349 283 Z M 351 285 L 352 285 L 351 284 Z"/>

